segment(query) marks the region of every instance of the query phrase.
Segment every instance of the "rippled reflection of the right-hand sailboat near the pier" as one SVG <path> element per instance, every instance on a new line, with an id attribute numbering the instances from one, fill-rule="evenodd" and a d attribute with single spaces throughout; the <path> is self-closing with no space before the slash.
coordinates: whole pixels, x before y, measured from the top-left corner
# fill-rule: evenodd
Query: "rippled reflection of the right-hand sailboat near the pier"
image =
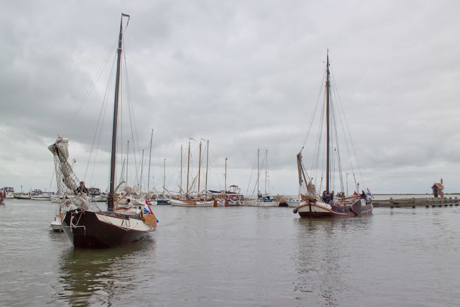
<path id="1" fill-rule="evenodd" d="M 353 289 L 347 274 L 359 267 L 356 236 L 365 235 L 371 217 L 330 220 L 298 218 L 294 233 L 294 262 L 298 278 L 296 299 L 335 306 Z"/>

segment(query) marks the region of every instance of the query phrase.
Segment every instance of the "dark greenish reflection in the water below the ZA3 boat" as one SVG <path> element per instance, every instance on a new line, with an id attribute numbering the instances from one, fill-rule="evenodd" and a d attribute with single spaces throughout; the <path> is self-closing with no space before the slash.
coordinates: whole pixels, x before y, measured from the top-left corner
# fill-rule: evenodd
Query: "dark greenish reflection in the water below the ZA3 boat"
<path id="1" fill-rule="evenodd" d="M 109 249 L 67 249 L 59 257 L 58 284 L 53 301 L 72 306 L 111 305 L 136 288 L 141 264 L 155 257 L 155 240 Z"/>

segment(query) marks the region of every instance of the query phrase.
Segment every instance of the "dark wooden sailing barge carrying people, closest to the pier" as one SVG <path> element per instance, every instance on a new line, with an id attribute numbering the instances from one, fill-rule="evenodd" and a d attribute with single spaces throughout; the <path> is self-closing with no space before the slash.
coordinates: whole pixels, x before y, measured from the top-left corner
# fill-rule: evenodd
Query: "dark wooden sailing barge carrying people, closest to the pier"
<path id="1" fill-rule="evenodd" d="M 325 114 L 326 114 L 326 197 L 320 197 L 315 185 L 311 181 L 311 177 L 306 175 L 305 167 L 302 163 L 302 150 L 297 154 L 297 168 L 299 184 L 307 184 L 306 194 L 301 194 L 302 202 L 293 210 L 301 217 L 307 218 L 322 218 L 322 217 L 353 217 L 359 215 L 371 214 L 374 208 L 371 202 L 371 197 L 368 197 L 364 192 L 357 196 L 346 197 L 343 193 L 343 184 L 341 184 L 340 196 L 335 196 L 332 191 L 331 195 L 331 83 L 329 71 L 329 50 L 326 59 L 326 86 L 325 86 Z M 304 143 L 305 145 L 305 143 Z M 338 145 L 337 145 L 338 147 Z M 302 147 L 303 149 L 304 147 Z M 319 155 L 318 146 L 318 155 Z M 336 153 L 337 159 L 340 159 Z M 319 160 L 318 160 L 319 161 Z M 340 163 L 340 162 L 338 162 Z M 340 166 L 339 166 L 340 171 Z M 354 173 L 353 173 L 354 175 Z M 321 182 L 322 182 L 321 175 Z M 340 181 L 342 177 L 340 175 Z M 357 187 L 359 184 L 357 184 Z M 371 195 L 372 196 L 372 195 Z"/>

